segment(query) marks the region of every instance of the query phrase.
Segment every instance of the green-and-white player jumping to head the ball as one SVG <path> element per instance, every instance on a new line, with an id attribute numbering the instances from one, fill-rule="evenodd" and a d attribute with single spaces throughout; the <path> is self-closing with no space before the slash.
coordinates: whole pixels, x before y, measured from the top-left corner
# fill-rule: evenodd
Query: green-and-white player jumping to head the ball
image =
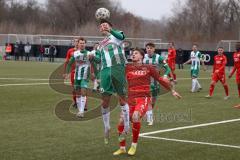
<path id="1" fill-rule="evenodd" d="M 110 112 L 109 102 L 111 95 L 117 93 L 124 119 L 124 133 L 129 130 L 129 106 L 126 100 L 125 64 L 127 62 L 122 47 L 125 35 L 122 31 L 112 28 L 107 20 L 99 25 L 100 32 L 105 38 L 99 43 L 96 56 L 90 56 L 95 62 L 101 62 L 100 91 L 102 92 L 102 117 L 105 130 L 105 144 L 109 141 Z"/>

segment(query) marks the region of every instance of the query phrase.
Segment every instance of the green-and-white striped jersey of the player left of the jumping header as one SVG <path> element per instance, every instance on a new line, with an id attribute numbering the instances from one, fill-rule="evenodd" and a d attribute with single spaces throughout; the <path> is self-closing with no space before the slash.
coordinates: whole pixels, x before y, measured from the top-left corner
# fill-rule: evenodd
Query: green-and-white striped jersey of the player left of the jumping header
<path id="1" fill-rule="evenodd" d="M 88 59 L 88 54 L 91 52 L 87 50 L 77 50 L 73 53 L 67 66 L 67 73 L 70 72 L 71 65 L 75 62 L 75 75 L 76 80 L 88 80 L 90 74 L 90 62 Z"/>

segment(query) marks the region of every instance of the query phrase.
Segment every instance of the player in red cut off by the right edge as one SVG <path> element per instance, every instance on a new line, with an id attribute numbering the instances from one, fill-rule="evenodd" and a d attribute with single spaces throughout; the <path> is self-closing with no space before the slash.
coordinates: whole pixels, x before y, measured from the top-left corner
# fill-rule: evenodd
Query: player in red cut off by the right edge
<path id="1" fill-rule="evenodd" d="M 238 96 L 240 98 L 240 43 L 236 45 L 236 50 L 237 50 L 237 52 L 235 52 L 233 54 L 234 66 L 229 75 L 229 78 L 231 78 L 233 76 L 233 74 L 235 73 L 235 71 L 237 71 L 236 83 L 238 86 Z"/>

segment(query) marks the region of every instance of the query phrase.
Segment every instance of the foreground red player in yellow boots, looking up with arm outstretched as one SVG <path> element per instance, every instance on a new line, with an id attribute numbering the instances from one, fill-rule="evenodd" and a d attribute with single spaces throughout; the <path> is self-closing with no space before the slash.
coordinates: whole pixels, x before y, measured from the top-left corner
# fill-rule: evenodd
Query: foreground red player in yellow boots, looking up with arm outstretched
<path id="1" fill-rule="evenodd" d="M 181 96 L 171 89 L 171 84 L 167 79 L 160 77 L 158 71 L 153 65 L 143 64 L 144 52 L 135 49 L 131 55 L 132 64 L 126 66 L 126 79 L 128 82 L 128 103 L 130 109 L 130 119 L 132 122 L 132 145 L 128 151 L 129 155 L 135 155 L 138 137 L 141 128 L 141 119 L 148 110 L 148 104 L 151 100 L 151 77 L 159 82 L 165 89 L 172 90 L 172 95 L 181 98 Z M 126 140 L 123 137 L 124 125 L 122 115 L 118 125 L 120 149 L 113 155 L 126 153 Z"/>

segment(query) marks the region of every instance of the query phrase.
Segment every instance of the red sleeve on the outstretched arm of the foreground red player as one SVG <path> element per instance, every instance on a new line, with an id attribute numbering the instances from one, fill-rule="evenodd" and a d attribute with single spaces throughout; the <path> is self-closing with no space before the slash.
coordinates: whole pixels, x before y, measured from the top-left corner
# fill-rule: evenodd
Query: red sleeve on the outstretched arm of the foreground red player
<path id="1" fill-rule="evenodd" d="M 149 66 L 150 76 L 153 77 L 159 84 L 161 84 L 167 90 L 171 90 L 171 85 L 168 81 L 160 77 L 159 73 L 153 66 Z"/>

